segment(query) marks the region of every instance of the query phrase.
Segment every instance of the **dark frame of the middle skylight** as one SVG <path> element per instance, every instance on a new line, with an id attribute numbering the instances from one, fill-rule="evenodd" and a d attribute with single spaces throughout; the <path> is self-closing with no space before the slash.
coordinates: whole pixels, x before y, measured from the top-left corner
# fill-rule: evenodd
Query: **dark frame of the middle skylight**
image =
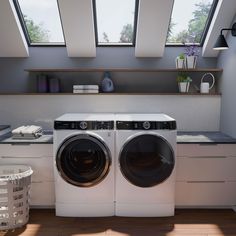
<path id="1" fill-rule="evenodd" d="M 97 10 L 96 0 L 93 0 L 93 18 L 94 18 L 94 32 L 95 32 L 95 43 L 96 47 L 135 47 L 136 34 L 137 34 L 137 22 L 138 22 L 138 10 L 139 0 L 135 0 L 134 6 L 134 21 L 133 21 L 133 41 L 132 43 L 99 43 L 98 42 L 98 24 L 97 24 Z"/>

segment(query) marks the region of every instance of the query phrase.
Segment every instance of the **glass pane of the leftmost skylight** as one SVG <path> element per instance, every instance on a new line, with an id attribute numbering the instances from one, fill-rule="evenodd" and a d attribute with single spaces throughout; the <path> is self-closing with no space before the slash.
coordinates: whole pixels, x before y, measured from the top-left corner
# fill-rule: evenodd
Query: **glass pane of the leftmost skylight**
<path id="1" fill-rule="evenodd" d="M 16 0 L 31 45 L 64 44 L 57 0 Z"/>

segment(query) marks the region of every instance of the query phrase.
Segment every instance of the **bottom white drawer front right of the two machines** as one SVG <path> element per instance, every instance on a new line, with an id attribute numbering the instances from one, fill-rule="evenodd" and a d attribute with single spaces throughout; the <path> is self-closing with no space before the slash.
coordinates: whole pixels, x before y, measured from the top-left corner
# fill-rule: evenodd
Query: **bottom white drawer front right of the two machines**
<path id="1" fill-rule="evenodd" d="M 236 205 L 236 182 L 177 182 L 176 206 Z"/>

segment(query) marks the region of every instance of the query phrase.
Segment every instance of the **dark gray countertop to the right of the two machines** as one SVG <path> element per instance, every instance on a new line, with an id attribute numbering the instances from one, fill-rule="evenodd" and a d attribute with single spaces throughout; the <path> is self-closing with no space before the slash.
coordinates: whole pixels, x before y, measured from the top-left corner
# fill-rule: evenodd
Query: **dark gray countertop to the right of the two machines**
<path id="1" fill-rule="evenodd" d="M 177 143 L 236 143 L 236 139 L 221 132 L 177 132 Z"/>

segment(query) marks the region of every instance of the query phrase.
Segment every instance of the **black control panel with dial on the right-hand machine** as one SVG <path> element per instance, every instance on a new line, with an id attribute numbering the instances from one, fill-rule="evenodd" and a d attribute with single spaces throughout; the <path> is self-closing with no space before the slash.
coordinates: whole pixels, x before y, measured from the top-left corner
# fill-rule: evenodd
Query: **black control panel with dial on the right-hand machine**
<path id="1" fill-rule="evenodd" d="M 176 121 L 116 121 L 118 130 L 176 130 Z"/>

